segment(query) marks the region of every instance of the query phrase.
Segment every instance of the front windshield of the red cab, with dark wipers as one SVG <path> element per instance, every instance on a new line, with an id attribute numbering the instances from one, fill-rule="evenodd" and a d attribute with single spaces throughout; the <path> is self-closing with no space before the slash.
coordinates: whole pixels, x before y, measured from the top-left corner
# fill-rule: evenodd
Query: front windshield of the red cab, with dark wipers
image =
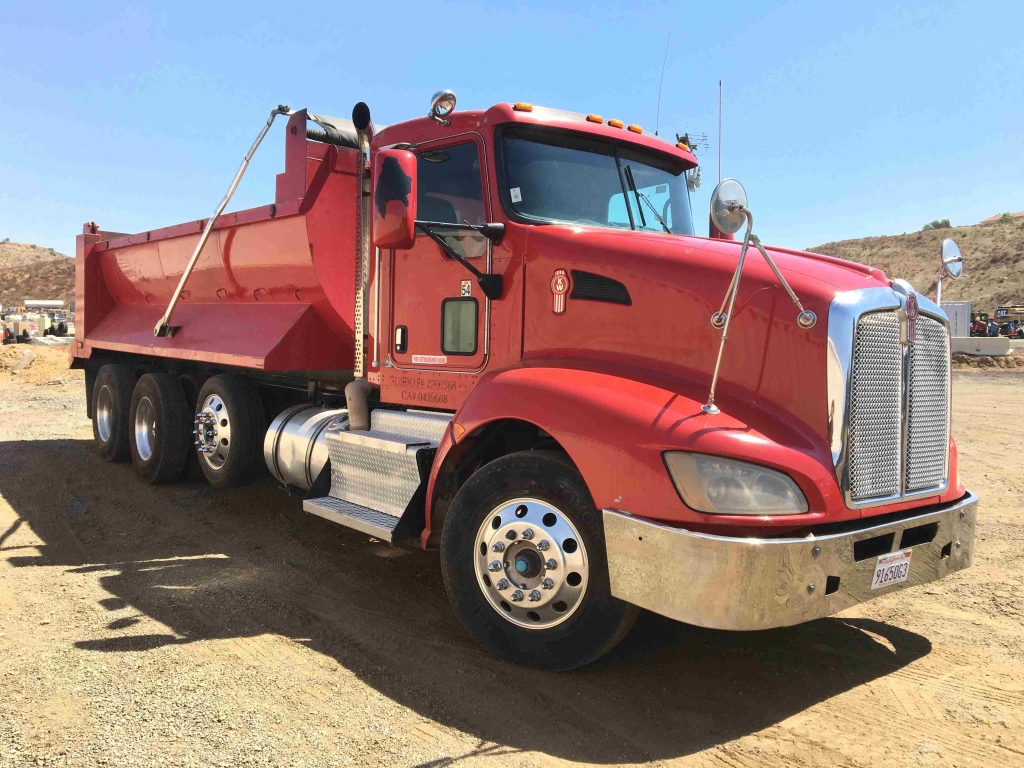
<path id="1" fill-rule="evenodd" d="M 517 126 L 503 131 L 501 159 L 523 219 L 693 234 L 686 173 L 671 158 Z"/>

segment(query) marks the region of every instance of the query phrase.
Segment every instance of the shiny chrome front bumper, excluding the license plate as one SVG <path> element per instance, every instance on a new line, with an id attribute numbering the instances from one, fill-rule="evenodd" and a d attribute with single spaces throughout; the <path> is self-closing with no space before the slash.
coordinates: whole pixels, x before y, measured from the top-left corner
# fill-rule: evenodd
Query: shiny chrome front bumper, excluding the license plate
<path id="1" fill-rule="evenodd" d="M 695 534 L 604 510 L 611 594 L 679 622 L 765 630 L 827 616 L 969 567 L 978 497 L 898 522 L 806 539 Z M 901 584 L 871 589 L 878 556 L 911 549 Z"/>

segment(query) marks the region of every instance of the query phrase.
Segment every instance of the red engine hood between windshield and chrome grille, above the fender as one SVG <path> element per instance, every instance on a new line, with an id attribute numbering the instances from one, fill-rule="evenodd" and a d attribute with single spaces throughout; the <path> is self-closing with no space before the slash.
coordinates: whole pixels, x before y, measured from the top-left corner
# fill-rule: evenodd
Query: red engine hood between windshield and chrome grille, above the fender
<path id="1" fill-rule="evenodd" d="M 625 376 L 707 399 L 721 337 L 711 316 L 722 305 L 740 247 L 667 233 L 530 227 L 523 359 L 615 362 Z M 827 452 L 829 305 L 839 293 L 890 284 L 871 267 L 768 250 L 817 324 L 797 326 L 788 295 L 761 254 L 748 251 L 716 401 L 766 436 L 774 432 Z M 559 269 L 570 280 L 560 313 L 553 284 Z"/>

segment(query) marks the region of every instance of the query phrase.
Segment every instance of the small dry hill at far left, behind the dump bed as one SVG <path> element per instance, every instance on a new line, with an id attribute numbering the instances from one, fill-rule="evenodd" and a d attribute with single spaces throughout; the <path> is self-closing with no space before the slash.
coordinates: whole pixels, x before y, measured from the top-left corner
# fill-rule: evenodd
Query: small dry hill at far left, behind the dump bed
<path id="1" fill-rule="evenodd" d="M 75 298 L 75 259 L 52 248 L 0 243 L 0 305 L 20 306 L 26 299 Z"/>

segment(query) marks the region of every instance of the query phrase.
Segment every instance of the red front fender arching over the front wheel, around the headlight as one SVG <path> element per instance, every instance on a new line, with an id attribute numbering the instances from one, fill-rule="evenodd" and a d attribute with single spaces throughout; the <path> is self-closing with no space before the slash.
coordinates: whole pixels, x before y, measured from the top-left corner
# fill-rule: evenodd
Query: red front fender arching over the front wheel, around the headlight
<path id="1" fill-rule="evenodd" d="M 865 510 L 847 508 L 823 436 L 795 433 L 778 416 L 719 399 L 721 414 L 708 416 L 701 400 L 680 394 L 670 383 L 636 369 L 577 360 L 522 364 L 484 377 L 456 414 L 438 447 L 427 487 L 426 543 L 434 483 L 459 440 L 487 424 L 516 419 L 549 433 L 575 463 L 598 509 L 631 512 L 694 530 L 781 534 L 822 522 L 895 512 L 951 501 L 963 486 L 951 483 L 943 497 L 918 499 Z M 675 382 L 678 385 L 678 381 Z M 691 393 L 695 394 L 695 392 Z M 730 409 L 730 404 L 733 408 Z M 683 504 L 666 469 L 665 451 L 695 451 L 772 467 L 790 475 L 807 498 L 808 512 L 782 516 L 709 515 Z M 950 452 L 955 473 L 955 449 Z M 958 487 L 954 487 L 958 486 Z"/>

